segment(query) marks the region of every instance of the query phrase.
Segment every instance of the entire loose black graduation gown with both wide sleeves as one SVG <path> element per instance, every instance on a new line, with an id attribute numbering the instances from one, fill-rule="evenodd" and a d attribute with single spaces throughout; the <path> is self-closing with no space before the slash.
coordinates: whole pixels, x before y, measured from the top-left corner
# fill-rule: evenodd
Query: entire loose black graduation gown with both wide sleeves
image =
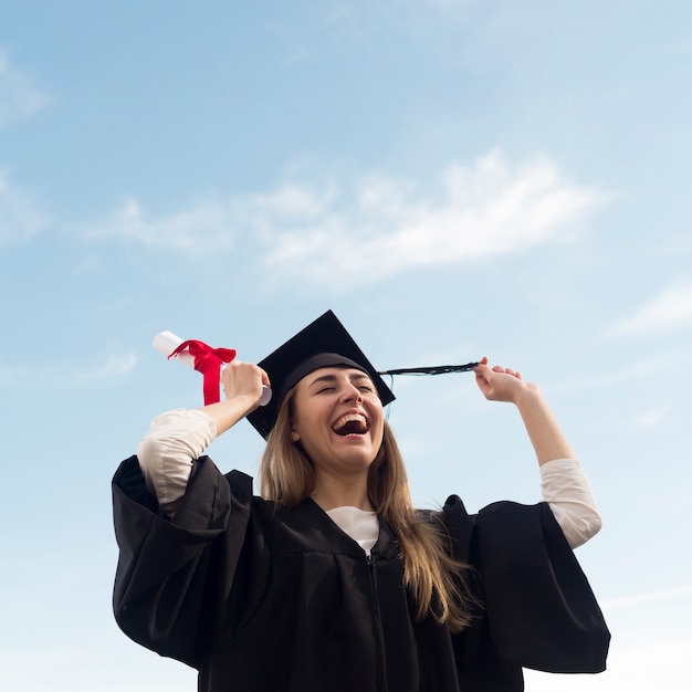
<path id="1" fill-rule="evenodd" d="M 515 692 L 522 667 L 605 669 L 608 629 L 545 503 L 470 516 L 448 500 L 454 553 L 485 602 L 451 635 L 416 621 L 384 521 L 368 559 L 312 500 L 287 510 L 251 489 L 203 457 L 169 521 L 136 457 L 114 478 L 116 620 L 197 668 L 200 692 Z"/>

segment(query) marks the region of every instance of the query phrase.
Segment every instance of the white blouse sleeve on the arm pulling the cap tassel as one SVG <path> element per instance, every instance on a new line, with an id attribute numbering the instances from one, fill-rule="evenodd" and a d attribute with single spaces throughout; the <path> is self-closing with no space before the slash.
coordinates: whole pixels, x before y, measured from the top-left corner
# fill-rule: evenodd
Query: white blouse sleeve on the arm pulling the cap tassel
<path id="1" fill-rule="evenodd" d="M 541 466 L 543 499 L 572 548 L 584 545 L 601 527 L 601 517 L 581 464 L 576 459 L 556 459 Z"/>

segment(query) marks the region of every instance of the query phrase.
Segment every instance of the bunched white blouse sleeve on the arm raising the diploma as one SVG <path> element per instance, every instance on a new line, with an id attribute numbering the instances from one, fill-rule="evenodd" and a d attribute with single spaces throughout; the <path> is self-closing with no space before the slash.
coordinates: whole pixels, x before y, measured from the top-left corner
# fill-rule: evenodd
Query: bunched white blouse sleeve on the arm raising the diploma
<path id="1" fill-rule="evenodd" d="M 157 416 L 137 449 L 147 490 L 161 510 L 172 514 L 187 489 L 192 462 L 217 437 L 214 422 L 203 411 L 176 409 Z"/>

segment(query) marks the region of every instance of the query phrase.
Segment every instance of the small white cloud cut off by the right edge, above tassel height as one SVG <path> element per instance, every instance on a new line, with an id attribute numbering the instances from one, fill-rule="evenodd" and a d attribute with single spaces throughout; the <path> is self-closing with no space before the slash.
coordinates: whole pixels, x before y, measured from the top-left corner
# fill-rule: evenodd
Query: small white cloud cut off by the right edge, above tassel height
<path id="1" fill-rule="evenodd" d="M 608 336 L 669 332 L 692 325 L 692 279 L 669 286 L 630 317 L 609 329 Z"/>

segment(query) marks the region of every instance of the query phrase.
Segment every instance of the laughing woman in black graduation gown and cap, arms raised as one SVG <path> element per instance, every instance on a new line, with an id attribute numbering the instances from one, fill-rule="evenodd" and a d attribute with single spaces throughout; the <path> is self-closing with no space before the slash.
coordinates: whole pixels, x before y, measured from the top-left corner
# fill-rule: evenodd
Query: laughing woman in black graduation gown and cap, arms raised
<path id="1" fill-rule="evenodd" d="M 573 553 L 600 528 L 579 462 L 536 385 L 474 370 L 518 409 L 536 505 L 416 511 L 394 395 L 331 312 L 226 367 L 223 401 L 155 418 L 113 484 L 120 628 L 198 669 L 203 692 L 514 692 L 525 667 L 604 670 L 608 629 Z M 203 455 L 245 417 L 268 440 L 261 496 Z"/>

